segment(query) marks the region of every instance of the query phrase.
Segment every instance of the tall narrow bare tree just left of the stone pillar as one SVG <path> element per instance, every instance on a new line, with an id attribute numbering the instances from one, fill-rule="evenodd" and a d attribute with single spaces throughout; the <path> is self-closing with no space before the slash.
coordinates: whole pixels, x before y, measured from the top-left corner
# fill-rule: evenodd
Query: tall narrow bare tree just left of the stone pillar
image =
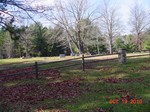
<path id="1" fill-rule="evenodd" d="M 118 14 L 118 8 L 111 6 L 109 1 L 103 0 L 101 8 L 100 28 L 109 45 L 109 52 L 113 54 L 113 41 L 122 31 L 122 25 Z"/>

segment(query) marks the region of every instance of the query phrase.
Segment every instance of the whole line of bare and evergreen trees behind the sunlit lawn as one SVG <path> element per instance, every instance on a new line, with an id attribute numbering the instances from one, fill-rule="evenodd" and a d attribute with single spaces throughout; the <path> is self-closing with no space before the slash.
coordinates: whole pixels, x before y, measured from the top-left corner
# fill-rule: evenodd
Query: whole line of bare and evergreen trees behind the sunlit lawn
<path id="1" fill-rule="evenodd" d="M 119 48 L 128 52 L 149 49 L 148 10 L 135 3 L 130 8 L 129 26 L 132 33 L 123 35 L 125 26 L 122 24 L 118 7 L 106 0 L 103 0 L 100 8 L 94 8 L 88 2 L 58 0 L 50 8 L 33 8 L 24 2 L 21 4 L 15 0 L 2 0 L 0 57 L 58 56 L 62 53 L 113 54 Z M 16 13 L 11 13 L 7 5 L 17 7 L 20 13 L 25 12 L 34 23 L 16 26 Z M 51 26 L 43 26 L 31 13 L 44 17 Z M 7 14 L 6 18 L 2 14 Z M 23 17 L 17 16 L 21 20 L 24 20 Z"/>

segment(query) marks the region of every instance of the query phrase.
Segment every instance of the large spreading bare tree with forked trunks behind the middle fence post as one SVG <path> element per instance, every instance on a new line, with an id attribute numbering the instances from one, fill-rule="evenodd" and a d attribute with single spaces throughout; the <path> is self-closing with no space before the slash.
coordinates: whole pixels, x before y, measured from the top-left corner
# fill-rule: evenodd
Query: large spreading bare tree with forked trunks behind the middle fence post
<path id="1" fill-rule="evenodd" d="M 72 49 L 71 42 L 73 42 L 80 54 L 84 52 L 84 39 L 88 27 L 90 27 L 90 23 L 87 22 L 86 25 L 83 25 L 82 21 L 88 19 L 93 22 L 96 18 L 93 18 L 94 11 L 91 11 L 90 8 L 87 0 L 68 0 L 63 3 L 59 0 L 55 4 L 52 16 L 48 17 L 49 20 L 53 20 L 53 23 L 62 25 L 67 33 L 66 40 L 70 49 Z"/>

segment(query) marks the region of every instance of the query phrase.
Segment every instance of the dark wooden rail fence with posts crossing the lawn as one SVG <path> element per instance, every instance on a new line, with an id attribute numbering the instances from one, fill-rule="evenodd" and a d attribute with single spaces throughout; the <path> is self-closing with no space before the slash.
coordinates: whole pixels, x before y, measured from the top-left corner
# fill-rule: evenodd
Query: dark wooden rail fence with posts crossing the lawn
<path id="1" fill-rule="evenodd" d="M 144 50 L 144 51 L 146 52 L 146 50 Z M 110 59 L 101 59 L 101 60 L 94 60 L 94 61 L 93 60 L 92 61 L 86 60 L 87 58 L 100 57 L 100 56 L 110 56 L 110 55 L 96 55 L 96 56 L 84 56 L 84 55 L 82 55 L 82 57 L 79 57 L 79 58 L 62 60 L 62 61 L 54 61 L 54 62 L 48 62 L 48 63 L 37 63 L 37 62 L 35 62 L 35 64 L 29 65 L 29 66 L 24 66 L 24 67 L 32 67 L 32 68 L 34 68 L 32 71 L 28 71 L 28 72 L 24 71 L 24 72 L 21 72 L 21 73 L 19 72 L 19 73 L 15 73 L 15 74 L 0 75 L 0 78 L 1 77 L 9 77 L 9 76 L 17 76 L 17 75 L 29 75 L 31 73 L 35 73 L 35 78 L 38 79 L 40 71 L 44 71 L 44 70 L 50 69 L 50 68 L 40 69 L 40 67 L 44 66 L 44 65 L 61 63 L 61 62 L 71 62 L 71 61 L 76 61 L 76 60 L 81 59 L 81 63 L 63 65 L 63 66 L 58 66 L 58 67 L 51 67 L 51 69 L 61 69 L 61 68 L 81 65 L 82 66 L 82 70 L 85 71 L 85 64 L 97 63 L 97 62 L 103 62 L 103 61 L 111 61 L 111 60 L 117 60 L 118 59 L 118 57 L 115 57 L 115 58 L 110 58 Z M 149 52 L 149 54 L 127 56 L 127 58 L 140 57 L 140 56 L 150 56 L 150 52 Z M 0 70 L 0 74 L 1 74 L 2 71 L 18 70 L 18 69 L 21 69 L 21 68 L 24 68 L 24 67 Z"/>

